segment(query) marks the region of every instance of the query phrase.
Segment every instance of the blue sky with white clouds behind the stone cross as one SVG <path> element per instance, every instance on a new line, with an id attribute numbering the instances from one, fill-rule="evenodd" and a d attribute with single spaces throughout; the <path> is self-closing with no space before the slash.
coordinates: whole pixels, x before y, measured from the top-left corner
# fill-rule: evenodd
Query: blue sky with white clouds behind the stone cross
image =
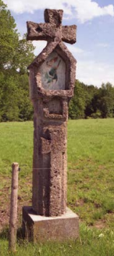
<path id="1" fill-rule="evenodd" d="M 44 10 L 63 9 L 63 25 L 77 25 L 77 43 L 66 44 L 77 59 L 76 78 L 98 88 L 114 85 L 114 0 L 3 0 L 21 35 L 27 21 L 44 23 Z M 46 41 L 33 41 L 35 55 Z"/>

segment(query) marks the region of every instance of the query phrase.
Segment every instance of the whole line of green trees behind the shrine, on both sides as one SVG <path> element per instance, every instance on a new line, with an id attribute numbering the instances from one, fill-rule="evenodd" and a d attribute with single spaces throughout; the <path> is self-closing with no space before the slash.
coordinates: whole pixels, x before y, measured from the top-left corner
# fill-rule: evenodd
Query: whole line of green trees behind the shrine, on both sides
<path id="1" fill-rule="evenodd" d="M 34 46 L 26 35 L 20 38 L 15 20 L 0 0 L 0 121 L 33 119 L 27 66 L 34 57 Z M 97 88 L 76 81 L 69 118 L 89 117 L 114 117 L 114 87 L 110 83 Z"/>

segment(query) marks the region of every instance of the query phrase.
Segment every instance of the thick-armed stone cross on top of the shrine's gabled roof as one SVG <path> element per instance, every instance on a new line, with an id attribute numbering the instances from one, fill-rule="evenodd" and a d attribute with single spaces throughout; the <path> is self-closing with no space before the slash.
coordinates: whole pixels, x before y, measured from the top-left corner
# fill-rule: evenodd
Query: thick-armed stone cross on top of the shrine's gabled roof
<path id="1" fill-rule="evenodd" d="M 45 9 L 45 23 L 27 22 L 27 40 L 57 40 L 74 44 L 76 25 L 62 27 L 62 10 Z"/>

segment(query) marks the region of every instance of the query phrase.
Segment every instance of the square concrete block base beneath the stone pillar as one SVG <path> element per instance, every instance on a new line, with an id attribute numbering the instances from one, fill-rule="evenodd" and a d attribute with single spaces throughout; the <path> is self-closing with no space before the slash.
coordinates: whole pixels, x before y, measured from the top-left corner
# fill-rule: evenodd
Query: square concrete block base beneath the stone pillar
<path id="1" fill-rule="evenodd" d="M 59 217 L 35 215 L 32 207 L 23 207 L 23 236 L 31 242 L 75 240 L 79 236 L 79 218 L 69 208 Z"/>

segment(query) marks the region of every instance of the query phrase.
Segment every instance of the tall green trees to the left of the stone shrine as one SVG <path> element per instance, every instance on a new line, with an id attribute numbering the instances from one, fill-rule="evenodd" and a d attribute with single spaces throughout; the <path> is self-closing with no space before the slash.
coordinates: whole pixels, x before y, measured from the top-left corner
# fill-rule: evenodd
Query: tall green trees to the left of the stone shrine
<path id="1" fill-rule="evenodd" d="M 27 121 L 33 117 L 27 66 L 34 46 L 20 39 L 16 23 L 0 0 L 0 121 Z"/>

